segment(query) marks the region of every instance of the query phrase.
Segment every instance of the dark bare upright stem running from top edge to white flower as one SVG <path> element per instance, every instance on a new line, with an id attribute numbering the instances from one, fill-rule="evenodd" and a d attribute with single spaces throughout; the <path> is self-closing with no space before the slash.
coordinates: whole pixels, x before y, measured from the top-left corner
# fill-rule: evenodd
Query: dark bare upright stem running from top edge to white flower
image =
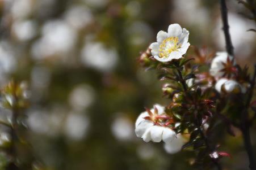
<path id="1" fill-rule="evenodd" d="M 226 41 L 226 51 L 228 52 L 229 55 L 234 56 L 234 47 L 232 45 L 232 41 L 229 33 L 228 10 L 226 8 L 225 0 L 220 0 L 220 10 L 221 10 L 221 18 L 223 21 L 223 31 L 224 31 L 225 41 Z"/>

